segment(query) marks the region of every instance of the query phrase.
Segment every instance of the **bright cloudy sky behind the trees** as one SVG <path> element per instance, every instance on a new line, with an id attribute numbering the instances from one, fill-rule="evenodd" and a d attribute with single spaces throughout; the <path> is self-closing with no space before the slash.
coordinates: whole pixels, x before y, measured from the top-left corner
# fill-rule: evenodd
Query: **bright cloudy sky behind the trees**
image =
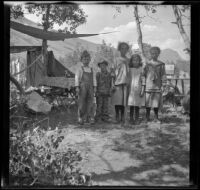
<path id="1" fill-rule="evenodd" d="M 117 4 L 115 4 L 117 5 Z M 121 13 L 118 13 L 112 5 L 108 4 L 81 4 L 87 17 L 87 22 L 77 28 L 77 33 L 102 33 L 110 31 L 118 31 L 111 34 L 98 35 L 93 37 L 82 38 L 94 43 L 102 43 L 105 40 L 114 47 L 119 41 L 126 41 L 138 48 L 137 44 L 137 28 L 133 14 L 133 7 L 125 7 L 125 5 L 117 5 L 121 7 Z M 142 5 L 138 5 L 139 15 L 146 16 L 146 11 Z M 189 56 L 185 54 L 184 42 L 179 33 L 178 27 L 171 22 L 175 21 L 171 5 L 159 5 L 157 12 L 149 13 L 142 19 L 141 29 L 143 33 L 143 42 L 152 46 L 159 46 L 161 49 L 171 48 L 176 50 L 179 55 L 186 60 Z M 185 13 L 189 18 L 184 20 L 184 28 L 190 38 L 190 11 Z M 35 15 L 25 14 L 25 17 L 38 22 L 39 19 Z M 61 27 L 64 28 L 65 26 Z M 55 25 L 55 29 L 59 27 Z"/>

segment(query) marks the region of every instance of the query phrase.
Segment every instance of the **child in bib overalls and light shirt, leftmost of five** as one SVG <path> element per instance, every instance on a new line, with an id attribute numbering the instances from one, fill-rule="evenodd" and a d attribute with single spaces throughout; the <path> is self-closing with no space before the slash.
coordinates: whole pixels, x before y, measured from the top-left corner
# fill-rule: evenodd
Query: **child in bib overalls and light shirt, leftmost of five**
<path id="1" fill-rule="evenodd" d="M 84 124 L 84 118 L 90 124 L 94 124 L 92 106 L 94 94 L 96 93 L 96 76 L 93 69 L 89 67 L 90 54 L 85 50 L 81 55 L 83 66 L 75 74 L 75 87 L 78 94 L 78 122 Z"/>

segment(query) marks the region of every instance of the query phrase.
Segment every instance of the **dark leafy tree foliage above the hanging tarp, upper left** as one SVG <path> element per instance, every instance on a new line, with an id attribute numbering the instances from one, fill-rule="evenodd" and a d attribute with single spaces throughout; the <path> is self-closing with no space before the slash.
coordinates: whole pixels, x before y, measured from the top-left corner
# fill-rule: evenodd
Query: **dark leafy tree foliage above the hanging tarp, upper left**
<path id="1" fill-rule="evenodd" d="M 85 12 L 78 4 L 27 4 L 25 10 L 36 16 L 42 15 L 41 25 L 46 28 L 53 28 L 54 24 L 61 26 L 66 24 L 66 33 L 76 33 L 76 28 L 86 22 Z M 47 11 L 49 11 L 47 18 Z M 24 16 L 24 10 L 21 5 L 11 7 L 11 17 L 17 19 Z M 40 24 L 40 23 L 39 23 Z"/>

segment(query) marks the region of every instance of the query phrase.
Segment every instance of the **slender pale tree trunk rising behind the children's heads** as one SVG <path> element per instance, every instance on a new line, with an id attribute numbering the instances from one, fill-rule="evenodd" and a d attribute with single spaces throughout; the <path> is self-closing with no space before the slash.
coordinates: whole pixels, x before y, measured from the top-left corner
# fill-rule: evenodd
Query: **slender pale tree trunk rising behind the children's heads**
<path id="1" fill-rule="evenodd" d="M 140 27 L 141 21 L 139 19 L 138 6 L 137 5 L 134 5 L 134 15 L 135 15 L 135 21 L 136 21 L 136 24 L 137 24 L 138 46 L 139 46 L 139 49 L 141 51 L 142 58 L 145 59 L 143 42 L 142 42 L 142 30 L 141 30 L 141 27 Z"/>

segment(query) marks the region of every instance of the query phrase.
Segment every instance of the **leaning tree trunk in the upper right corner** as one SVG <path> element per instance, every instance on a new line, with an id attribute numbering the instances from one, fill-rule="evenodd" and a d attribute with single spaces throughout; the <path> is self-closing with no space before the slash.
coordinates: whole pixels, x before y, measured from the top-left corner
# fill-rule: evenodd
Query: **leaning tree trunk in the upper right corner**
<path id="1" fill-rule="evenodd" d="M 188 51 L 188 53 L 190 53 L 190 40 L 183 28 L 183 24 L 182 24 L 182 19 L 181 19 L 181 15 L 179 13 L 179 8 L 177 5 L 172 5 L 173 11 L 174 11 L 174 16 L 176 18 L 176 24 L 178 26 L 179 32 L 183 38 L 183 41 L 185 43 L 186 46 L 186 50 Z"/>

